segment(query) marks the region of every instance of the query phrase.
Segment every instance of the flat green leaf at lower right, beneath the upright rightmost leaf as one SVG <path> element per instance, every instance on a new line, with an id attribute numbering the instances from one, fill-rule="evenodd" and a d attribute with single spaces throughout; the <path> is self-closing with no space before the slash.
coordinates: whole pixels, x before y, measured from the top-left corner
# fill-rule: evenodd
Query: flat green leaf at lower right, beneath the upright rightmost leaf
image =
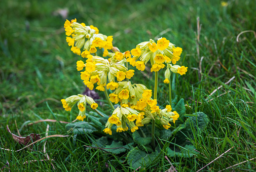
<path id="1" fill-rule="evenodd" d="M 183 147 L 179 147 L 180 151 L 173 151 L 171 148 L 168 147 L 167 149 L 167 155 L 169 155 L 170 157 L 183 157 L 183 158 L 190 158 L 194 155 L 197 155 L 197 152 L 194 150 L 196 149 L 194 146 L 192 145 L 186 145 L 184 148 Z"/>

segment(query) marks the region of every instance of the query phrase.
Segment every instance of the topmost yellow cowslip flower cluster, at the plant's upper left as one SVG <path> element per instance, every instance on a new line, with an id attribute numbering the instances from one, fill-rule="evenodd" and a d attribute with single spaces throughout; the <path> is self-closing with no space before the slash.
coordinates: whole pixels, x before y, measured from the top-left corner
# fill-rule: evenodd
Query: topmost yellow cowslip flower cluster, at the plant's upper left
<path id="1" fill-rule="evenodd" d="M 96 53 L 97 48 L 104 49 L 104 55 L 113 48 L 113 36 L 106 36 L 99 33 L 97 27 L 93 25 L 86 26 L 84 23 L 78 23 L 77 19 L 65 21 L 66 41 L 71 46 L 71 51 L 81 55 L 83 58 L 91 53 Z M 71 37 L 69 37 L 71 36 Z M 81 52 L 82 48 L 82 52 Z"/>

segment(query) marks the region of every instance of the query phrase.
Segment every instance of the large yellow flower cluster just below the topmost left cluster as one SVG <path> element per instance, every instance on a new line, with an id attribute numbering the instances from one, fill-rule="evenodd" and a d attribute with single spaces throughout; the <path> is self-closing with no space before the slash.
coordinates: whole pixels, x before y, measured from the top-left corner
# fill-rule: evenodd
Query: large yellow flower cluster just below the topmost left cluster
<path id="1" fill-rule="evenodd" d="M 119 83 L 115 82 L 115 77 L 118 81 L 122 81 L 134 75 L 134 70 L 128 70 L 124 66 L 125 61 L 114 63 L 92 55 L 88 55 L 87 58 L 86 64 L 82 60 L 77 61 L 77 70 L 83 70 L 85 67 L 85 71 L 81 72 L 81 79 L 90 90 L 93 90 L 94 83 L 97 83 L 96 89 L 99 91 L 104 91 L 105 86 L 107 89 L 115 90 L 119 86 Z"/>

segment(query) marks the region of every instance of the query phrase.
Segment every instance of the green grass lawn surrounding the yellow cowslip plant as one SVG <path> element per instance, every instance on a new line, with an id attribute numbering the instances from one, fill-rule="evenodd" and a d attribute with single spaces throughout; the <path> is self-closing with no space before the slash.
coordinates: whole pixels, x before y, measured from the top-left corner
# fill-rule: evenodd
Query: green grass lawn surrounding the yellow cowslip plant
<path id="1" fill-rule="evenodd" d="M 222 170 L 256 157 L 256 39 L 249 32 L 239 37 L 240 42 L 236 41 L 241 31 L 256 30 L 256 2 L 234 0 L 228 3 L 227 7 L 222 7 L 220 1 L 202 0 L 1 1 L 0 147 L 11 150 L 24 147 L 6 131 L 8 124 L 17 135 L 15 120 L 22 136 L 36 133 L 44 137 L 47 124 L 50 124 L 49 135 L 66 135 L 65 124 L 41 122 L 21 126 L 39 119 L 72 121 L 76 118 L 76 113 L 70 115 L 63 110 L 59 100 L 85 90 L 76 70 L 76 61 L 81 57 L 73 54 L 66 44 L 65 20 L 52 15 L 58 8 L 68 8 L 67 19 L 77 18 L 79 22 L 98 27 L 105 35 L 114 35 L 114 46 L 122 52 L 156 36 L 166 37 L 183 49 L 177 64 L 188 66 L 189 71 L 185 76 L 174 78 L 173 96 L 184 98 L 191 106 L 191 113 L 206 113 L 210 123 L 206 130 L 194 131 L 191 142 L 200 152 L 197 157 L 169 158 L 178 171 L 196 171 L 232 147 L 203 171 Z M 202 24 L 201 74 L 198 74 L 200 60 L 196 51 L 197 17 Z M 162 31 L 167 32 L 159 35 Z M 149 76 L 136 70 L 132 81 L 153 89 L 154 75 L 144 72 Z M 235 79 L 225 84 L 233 76 Z M 159 102 L 167 104 L 168 88 L 163 80 L 164 71 L 160 71 Z M 221 85 L 221 89 L 209 96 Z M 102 93 L 100 96 L 104 97 Z M 109 114 L 109 106 L 105 103 L 100 110 Z M 50 162 L 57 171 L 133 171 L 129 164 L 121 161 L 125 155 L 85 149 L 84 145 L 90 145 L 93 137 L 47 139 L 46 150 L 54 159 Z M 11 171 L 53 170 L 49 161 L 23 164 L 46 159 L 44 142 L 31 146 L 31 151 L 0 150 L 0 167 L 8 161 Z M 164 156 L 163 151 L 157 160 L 145 166 L 145 171 L 169 169 L 170 164 Z M 256 171 L 255 167 L 256 159 L 233 169 Z"/>

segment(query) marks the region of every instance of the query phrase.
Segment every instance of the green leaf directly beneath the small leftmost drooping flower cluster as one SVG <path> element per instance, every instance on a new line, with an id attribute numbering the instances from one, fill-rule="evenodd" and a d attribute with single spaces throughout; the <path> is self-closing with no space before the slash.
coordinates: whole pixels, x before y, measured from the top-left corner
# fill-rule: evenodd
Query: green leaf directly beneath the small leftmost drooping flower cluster
<path id="1" fill-rule="evenodd" d="M 68 123 L 65 126 L 66 131 L 71 130 L 74 134 L 85 134 L 85 133 L 93 133 L 97 131 L 95 127 L 93 127 L 89 122 L 80 121 L 74 123 Z"/>

